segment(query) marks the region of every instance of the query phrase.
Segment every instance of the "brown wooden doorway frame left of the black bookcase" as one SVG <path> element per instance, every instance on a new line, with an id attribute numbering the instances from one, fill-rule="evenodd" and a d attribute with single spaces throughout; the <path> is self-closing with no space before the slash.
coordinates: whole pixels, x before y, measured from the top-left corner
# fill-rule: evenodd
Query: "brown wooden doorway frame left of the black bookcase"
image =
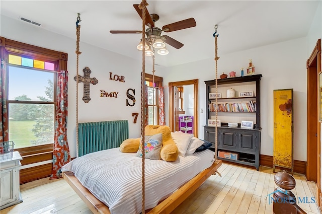
<path id="1" fill-rule="evenodd" d="M 181 102 L 184 86 L 193 85 L 193 134 L 198 137 L 198 79 L 169 83 L 169 126 L 171 131 L 179 129 L 179 115 L 185 114 L 185 107 Z M 187 109 L 188 110 L 188 109 Z"/>

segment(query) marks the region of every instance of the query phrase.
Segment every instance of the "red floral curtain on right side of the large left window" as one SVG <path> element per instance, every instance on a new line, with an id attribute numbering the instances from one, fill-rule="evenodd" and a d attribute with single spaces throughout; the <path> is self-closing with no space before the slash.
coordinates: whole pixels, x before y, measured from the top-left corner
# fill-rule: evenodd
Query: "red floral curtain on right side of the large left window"
<path id="1" fill-rule="evenodd" d="M 53 166 L 50 179 L 61 177 L 61 167 L 70 161 L 67 142 L 67 112 L 68 112 L 68 72 L 57 73 L 57 110 L 55 119 L 55 138 L 53 151 Z"/>

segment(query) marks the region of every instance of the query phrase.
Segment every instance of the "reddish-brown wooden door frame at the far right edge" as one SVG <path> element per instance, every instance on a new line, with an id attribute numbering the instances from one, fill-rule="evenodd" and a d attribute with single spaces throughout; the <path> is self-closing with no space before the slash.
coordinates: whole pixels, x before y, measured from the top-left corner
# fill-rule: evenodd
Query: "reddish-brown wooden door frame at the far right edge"
<path id="1" fill-rule="evenodd" d="M 320 153 L 321 124 L 318 121 L 318 74 L 321 72 L 321 39 L 316 45 L 306 61 L 307 69 L 307 155 L 306 155 L 306 179 L 316 181 L 316 198 L 320 206 L 321 194 L 321 166 Z"/>

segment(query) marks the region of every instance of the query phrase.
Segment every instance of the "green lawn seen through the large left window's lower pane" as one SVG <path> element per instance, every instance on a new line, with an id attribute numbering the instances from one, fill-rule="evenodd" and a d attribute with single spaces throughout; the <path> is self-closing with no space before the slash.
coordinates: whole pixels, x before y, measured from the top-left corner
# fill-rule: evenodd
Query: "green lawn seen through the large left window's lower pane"
<path id="1" fill-rule="evenodd" d="M 36 121 L 12 121 L 9 125 L 9 140 L 14 141 L 15 149 L 22 147 L 31 147 L 30 140 L 35 140 L 36 137 L 31 131 Z"/>

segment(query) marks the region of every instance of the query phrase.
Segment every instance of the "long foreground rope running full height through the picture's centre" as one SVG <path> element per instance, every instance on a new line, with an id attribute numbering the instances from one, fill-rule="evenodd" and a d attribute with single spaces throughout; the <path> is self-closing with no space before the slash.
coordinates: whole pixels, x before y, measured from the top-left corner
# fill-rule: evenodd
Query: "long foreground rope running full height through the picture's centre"
<path id="1" fill-rule="evenodd" d="M 142 10 L 142 76 L 141 76 L 141 153 L 142 153 L 142 214 L 145 213 L 145 183 L 144 183 L 144 160 L 145 160 L 145 151 L 144 151 L 144 125 L 145 125 L 145 8 L 148 6 L 145 0 L 142 0 L 139 5 L 139 9 Z M 147 109 L 146 109 L 147 111 Z"/>

